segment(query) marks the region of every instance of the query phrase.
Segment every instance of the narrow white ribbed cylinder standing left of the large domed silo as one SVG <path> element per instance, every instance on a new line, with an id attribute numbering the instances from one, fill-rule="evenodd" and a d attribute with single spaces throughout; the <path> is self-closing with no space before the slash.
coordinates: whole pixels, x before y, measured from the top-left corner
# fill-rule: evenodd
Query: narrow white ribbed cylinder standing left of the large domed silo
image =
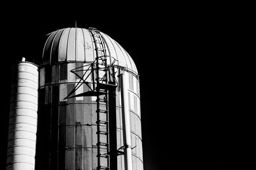
<path id="1" fill-rule="evenodd" d="M 21 61 L 13 68 L 6 169 L 35 169 L 38 66 Z"/>

